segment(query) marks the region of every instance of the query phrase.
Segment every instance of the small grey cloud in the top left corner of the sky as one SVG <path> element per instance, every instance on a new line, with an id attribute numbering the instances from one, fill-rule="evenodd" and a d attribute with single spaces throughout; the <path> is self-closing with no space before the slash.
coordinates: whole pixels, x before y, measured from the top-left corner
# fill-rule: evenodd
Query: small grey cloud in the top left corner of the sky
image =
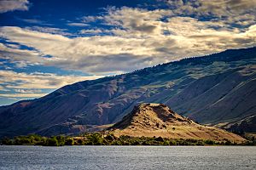
<path id="1" fill-rule="evenodd" d="M 8 11 L 21 10 L 26 11 L 29 8 L 29 2 L 27 0 L 1 0 L 0 1 L 0 13 L 6 13 Z"/>

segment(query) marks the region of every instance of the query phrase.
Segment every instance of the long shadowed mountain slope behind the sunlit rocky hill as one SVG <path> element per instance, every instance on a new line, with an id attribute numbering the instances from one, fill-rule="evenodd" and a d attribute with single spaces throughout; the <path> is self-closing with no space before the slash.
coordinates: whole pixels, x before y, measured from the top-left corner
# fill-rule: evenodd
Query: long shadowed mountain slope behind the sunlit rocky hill
<path id="1" fill-rule="evenodd" d="M 138 103 L 164 103 L 200 123 L 240 121 L 256 113 L 255 73 L 256 48 L 242 48 L 77 82 L 0 107 L 0 137 L 98 129 Z"/>

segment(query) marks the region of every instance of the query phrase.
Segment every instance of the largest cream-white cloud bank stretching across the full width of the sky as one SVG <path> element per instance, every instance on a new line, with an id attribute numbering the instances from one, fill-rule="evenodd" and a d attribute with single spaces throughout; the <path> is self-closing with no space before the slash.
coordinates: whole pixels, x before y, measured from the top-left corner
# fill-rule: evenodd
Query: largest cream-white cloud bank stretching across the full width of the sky
<path id="1" fill-rule="evenodd" d="M 23 59 L 26 63 L 102 75 L 256 43 L 256 23 L 240 28 L 222 20 L 200 20 L 175 13 L 174 9 L 108 8 L 107 14 L 86 16 L 83 20 L 101 20 L 102 24 L 111 26 L 111 30 L 84 29 L 84 37 L 73 38 L 4 26 L 0 28 L 1 37 L 35 50 L 30 54 L 30 50 L 4 48 L 3 52 L 15 52 L 14 56 L 27 53 Z M 96 36 L 103 31 L 112 35 Z M 21 57 L 11 58 L 9 54 L 9 59 L 18 61 Z"/>

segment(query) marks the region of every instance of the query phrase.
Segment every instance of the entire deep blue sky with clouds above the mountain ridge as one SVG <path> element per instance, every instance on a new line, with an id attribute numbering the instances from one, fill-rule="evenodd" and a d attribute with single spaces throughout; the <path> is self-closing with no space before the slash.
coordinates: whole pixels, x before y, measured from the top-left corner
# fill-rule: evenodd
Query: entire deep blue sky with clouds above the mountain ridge
<path id="1" fill-rule="evenodd" d="M 0 105 L 256 44 L 256 0 L 0 0 Z"/>

